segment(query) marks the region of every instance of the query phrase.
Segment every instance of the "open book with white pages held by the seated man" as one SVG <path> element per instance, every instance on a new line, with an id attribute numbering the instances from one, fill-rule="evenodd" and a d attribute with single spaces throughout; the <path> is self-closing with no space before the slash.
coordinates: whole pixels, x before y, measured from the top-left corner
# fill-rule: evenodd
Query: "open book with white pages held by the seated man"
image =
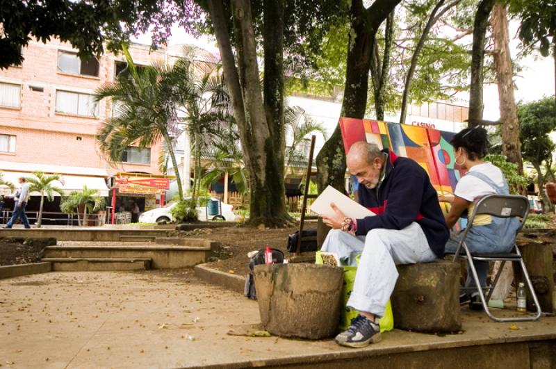
<path id="1" fill-rule="evenodd" d="M 350 197 L 345 196 L 332 186 L 325 188 L 316 198 L 315 202 L 311 204 L 311 211 L 314 211 L 318 215 L 332 216 L 334 215 L 334 211 L 330 206 L 332 202 L 338 206 L 338 209 L 340 209 L 346 217 L 361 219 L 376 215 L 365 206 L 354 202 Z"/>

